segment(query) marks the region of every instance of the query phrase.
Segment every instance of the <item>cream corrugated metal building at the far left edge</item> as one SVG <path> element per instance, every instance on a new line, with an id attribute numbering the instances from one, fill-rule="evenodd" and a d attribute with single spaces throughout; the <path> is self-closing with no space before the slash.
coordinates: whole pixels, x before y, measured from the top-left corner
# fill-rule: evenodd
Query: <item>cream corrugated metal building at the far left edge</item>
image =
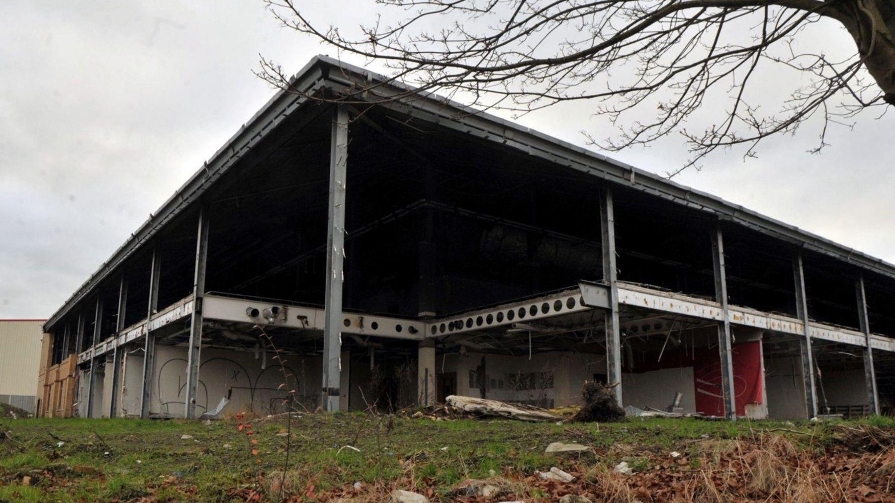
<path id="1" fill-rule="evenodd" d="M 43 322 L 0 320 L 0 396 L 16 396 L 12 405 L 21 406 L 28 396 L 33 403 L 38 388 Z"/>

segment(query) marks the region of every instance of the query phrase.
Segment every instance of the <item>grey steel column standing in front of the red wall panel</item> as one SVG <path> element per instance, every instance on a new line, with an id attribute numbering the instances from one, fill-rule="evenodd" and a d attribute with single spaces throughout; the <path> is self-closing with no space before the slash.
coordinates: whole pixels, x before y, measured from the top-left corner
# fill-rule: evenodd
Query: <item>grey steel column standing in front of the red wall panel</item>
<path id="1" fill-rule="evenodd" d="M 721 304 L 724 319 L 718 324 L 718 352 L 720 354 L 721 388 L 724 395 L 724 415 L 737 420 L 737 393 L 734 391 L 733 345 L 728 316 L 727 269 L 724 263 L 724 236 L 720 224 L 712 230 L 712 264 L 715 271 L 715 300 Z"/>

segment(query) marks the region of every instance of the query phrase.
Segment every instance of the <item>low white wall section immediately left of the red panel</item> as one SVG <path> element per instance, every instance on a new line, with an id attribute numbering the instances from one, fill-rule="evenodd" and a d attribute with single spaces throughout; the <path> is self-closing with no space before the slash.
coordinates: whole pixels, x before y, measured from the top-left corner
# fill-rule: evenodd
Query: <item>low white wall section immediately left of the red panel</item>
<path id="1" fill-rule="evenodd" d="M 674 401 L 675 393 L 684 394 L 680 406 L 685 413 L 696 412 L 693 367 L 661 369 L 621 376 L 622 400 L 625 405 L 652 407 L 664 411 Z"/>

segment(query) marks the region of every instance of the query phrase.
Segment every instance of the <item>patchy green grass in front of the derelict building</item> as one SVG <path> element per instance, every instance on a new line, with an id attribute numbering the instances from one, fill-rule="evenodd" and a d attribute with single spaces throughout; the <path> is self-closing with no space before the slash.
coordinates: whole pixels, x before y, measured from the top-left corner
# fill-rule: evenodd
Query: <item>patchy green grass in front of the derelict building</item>
<path id="1" fill-rule="evenodd" d="M 869 426 L 895 427 L 891 418 L 871 418 Z M 236 422 L 26 419 L 0 421 L 9 438 L 0 440 L 0 501 L 244 499 L 245 488 L 266 490 L 282 480 L 286 437 L 282 420 L 254 421 L 257 445 L 237 431 Z M 388 418 L 370 420 L 362 413 L 305 414 L 294 419 L 286 488 L 296 492 L 313 484 L 316 491 L 413 481 L 438 493 L 466 478 L 487 479 L 503 473 L 531 475 L 535 470 L 586 464 L 593 477 L 615 483 L 611 467 L 626 459 L 635 471 L 649 468 L 647 458 L 631 456 L 625 446 L 649 452 L 680 450 L 691 468 L 705 468 L 712 453 L 728 439 L 784 430 L 793 442 L 823 445 L 831 423 L 706 422 L 695 419 L 634 419 L 612 424 L 544 424 L 509 421 L 439 421 Z M 182 435 L 192 439 L 181 439 Z M 695 440 L 712 439 L 695 447 Z M 555 457 L 544 454 L 553 441 L 580 442 L 604 453 Z M 62 442 L 62 445 L 60 445 Z M 351 445 L 353 448 L 345 448 Z M 259 455 L 252 456 L 251 449 Z M 715 458 L 717 456 L 714 456 Z M 30 486 L 22 485 L 31 477 Z M 534 495 L 539 489 L 531 488 Z M 628 493 L 618 489 L 618 500 Z"/>

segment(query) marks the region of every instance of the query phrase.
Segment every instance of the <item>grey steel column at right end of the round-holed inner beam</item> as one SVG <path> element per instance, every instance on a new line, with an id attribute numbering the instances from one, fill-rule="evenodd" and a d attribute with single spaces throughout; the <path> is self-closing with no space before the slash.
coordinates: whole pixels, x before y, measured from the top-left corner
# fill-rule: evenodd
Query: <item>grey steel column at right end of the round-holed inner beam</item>
<path id="1" fill-rule="evenodd" d="M 615 211 L 612 207 L 612 188 L 603 183 L 600 197 L 600 228 L 603 253 L 603 283 L 609 286 L 609 310 L 606 311 L 606 371 L 607 382 L 616 387 L 618 405 L 624 406 L 621 390 L 621 333 L 618 324 L 618 268 L 615 250 Z"/>

